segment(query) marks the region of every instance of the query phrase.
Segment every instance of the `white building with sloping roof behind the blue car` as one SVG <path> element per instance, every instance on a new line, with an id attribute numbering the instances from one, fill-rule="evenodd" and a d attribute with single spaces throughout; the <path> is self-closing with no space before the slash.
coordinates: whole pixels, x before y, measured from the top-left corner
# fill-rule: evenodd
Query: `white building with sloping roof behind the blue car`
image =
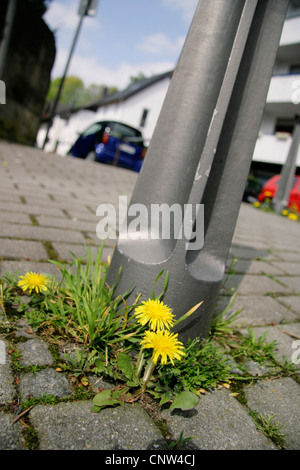
<path id="1" fill-rule="evenodd" d="M 123 91 L 108 95 L 89 106 L 58 113 L 48 135 L 46 151 L 65 155 L 78 133 L 96 121 L 114 120 L 140 129 L 145 144 L 150 142 L 173 71 L 131 84 Z M 42 147 L 48 122 L 42 124 L 37 145 Z"/>

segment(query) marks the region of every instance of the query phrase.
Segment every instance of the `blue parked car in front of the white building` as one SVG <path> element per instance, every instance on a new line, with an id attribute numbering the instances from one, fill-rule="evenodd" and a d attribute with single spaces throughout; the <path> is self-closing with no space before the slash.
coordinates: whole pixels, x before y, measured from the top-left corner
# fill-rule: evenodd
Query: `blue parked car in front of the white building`
<path id="1" fill-rule="evenodd" d="M 72 145 L 73 157 L 128 168 L 139 172 L 146 153 L 141 131 L 117 121 L 90 125 Z"/>

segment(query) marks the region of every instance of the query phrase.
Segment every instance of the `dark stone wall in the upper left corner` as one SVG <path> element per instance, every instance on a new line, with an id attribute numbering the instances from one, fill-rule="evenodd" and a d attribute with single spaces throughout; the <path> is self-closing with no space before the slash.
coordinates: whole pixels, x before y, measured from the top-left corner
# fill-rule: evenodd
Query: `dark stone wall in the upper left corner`
<path id="1" fill-rule="evenodd" d="M 6 6 L 0 2 L 0 40 Z M 2 80 L 0 138 L 34 145 L 55 59 L 55 40 L 43 19 L 24 0 L 18 2 Z"/>

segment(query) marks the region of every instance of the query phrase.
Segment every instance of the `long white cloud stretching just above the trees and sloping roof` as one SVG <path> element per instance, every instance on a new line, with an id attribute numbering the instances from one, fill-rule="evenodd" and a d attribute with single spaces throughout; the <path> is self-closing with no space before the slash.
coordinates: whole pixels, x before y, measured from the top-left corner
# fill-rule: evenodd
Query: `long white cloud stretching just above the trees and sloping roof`
<path id="1" fill-rule="evenodd" d="M 67 58 L 68 52 L 66 50 L 60 50 L 57 53 L 52 78 L 62 76 Z M 100 64 L 94 57 L 83 57 L 74 54 L 67 75 L 80 77 L 86 86 L 97 83 L 116 86 L 122 90 L 129 84 L 131 76 L 143 72 L 147 77 L 150 77 L 172 70 L 174 66 L 175 64 L 170 61 L 141 62 L 135 65 L 121 62 L 117 68 L 112 69 Z"/>

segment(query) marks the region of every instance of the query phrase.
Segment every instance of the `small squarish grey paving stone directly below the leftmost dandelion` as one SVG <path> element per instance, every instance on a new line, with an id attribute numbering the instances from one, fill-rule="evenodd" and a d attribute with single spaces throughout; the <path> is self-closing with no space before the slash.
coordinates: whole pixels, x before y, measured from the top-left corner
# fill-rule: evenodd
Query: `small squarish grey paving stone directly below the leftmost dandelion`
<path id="1" fill-rule="evenodd" d="M 19 343 L 18 349 L 22 355 L 20 364 L 23 366 L 53 364 L 53 357 L 49 352 L 47 343 L 40 339 L 29 339 L 25 343 Z"/>

